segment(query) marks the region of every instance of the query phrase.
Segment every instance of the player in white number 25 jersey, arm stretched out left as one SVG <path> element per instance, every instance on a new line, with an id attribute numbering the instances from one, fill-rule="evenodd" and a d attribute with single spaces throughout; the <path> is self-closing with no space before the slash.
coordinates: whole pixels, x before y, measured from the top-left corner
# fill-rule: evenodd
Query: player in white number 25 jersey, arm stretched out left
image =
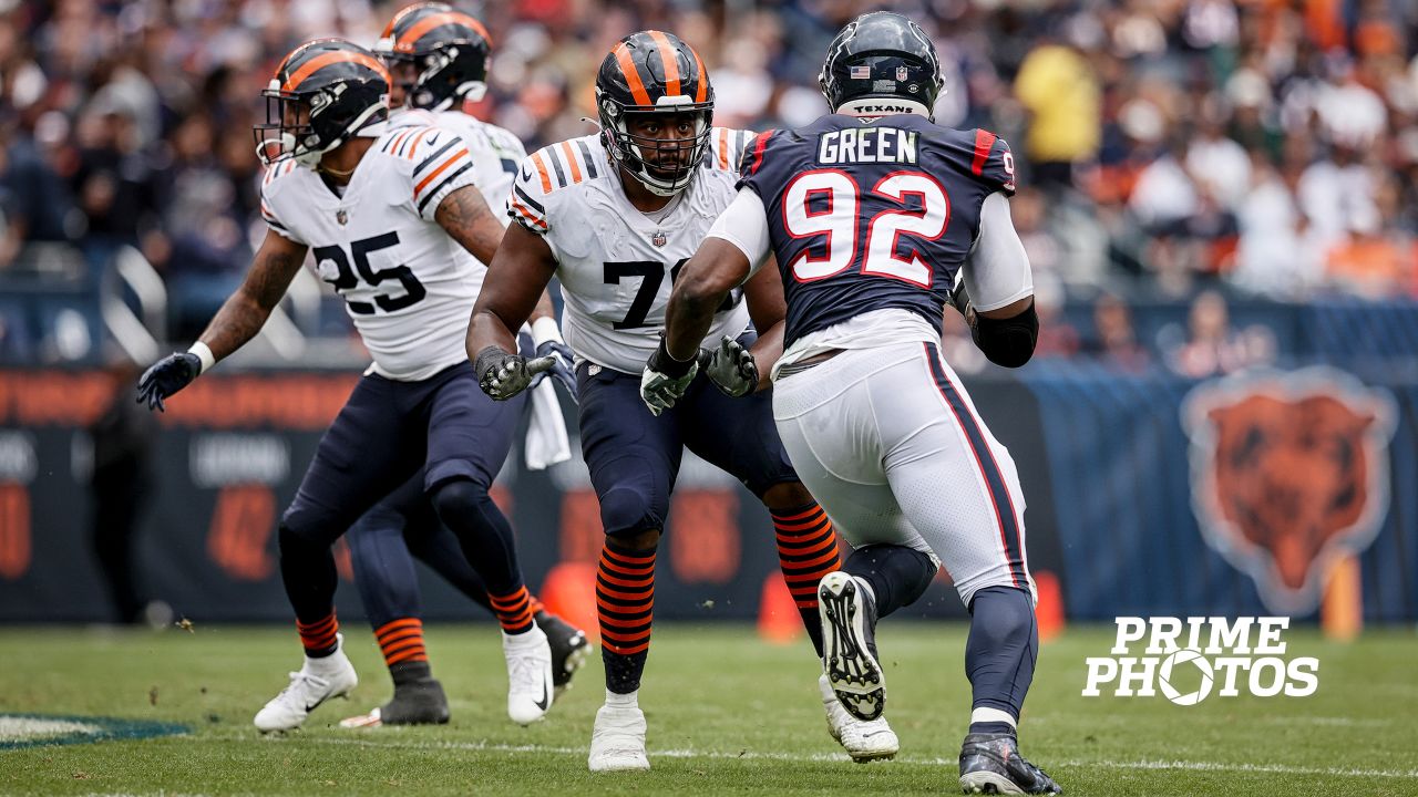
<path id="1" fill-rule="evenodd" d="M 322 38 L 286 55 L 262 92 L 267 122 L 254 130 L 268 165 L 265 241 L 197 343 L 138 384 L 139 401 L 160 410 L 240 349 L 308 251 L 373 355 L 281 518 L 281 579 L 305 662 L 257 713 L 262 732 L 298 728 L 354 688 L 335 617 L 330 546 L 420 468 L 424 492 L 486 584 L 502 625 L 509 716 L 529 723 L 552 703 L 546 634 L 532 621 L 512 529 L 488 496 L 520 407 L 478 390 L 462 346 L 482 262 L 503 228 L 476 189 L 468 145 L 435 126 L 389 129 L 387 92 L 384 65 L 357 44 Z M 543 296 L 537 313 L 549 312 Z M 550 364 L 533 360 L 533 370 Z"/>

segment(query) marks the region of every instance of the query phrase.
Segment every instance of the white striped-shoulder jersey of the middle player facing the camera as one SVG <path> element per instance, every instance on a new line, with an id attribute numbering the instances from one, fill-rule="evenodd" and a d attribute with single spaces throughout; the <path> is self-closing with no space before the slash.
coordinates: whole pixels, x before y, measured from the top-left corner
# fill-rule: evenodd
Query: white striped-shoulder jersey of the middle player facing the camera
<path id="1" fill-rule="evenodd" d="M 562 335 L 579 359 L 640 373 L 659 345 L 679 267 L 735 197 L 747 130 L 713 128 L 689 187 L 657 213 L 625 199 L 596 135 L 543 147 L 522 162 L 508 200 L 512 218 L 542 235 L 562 281 Z M 749 326 L 743 292 L 715 313 L 705 340 Z"/>

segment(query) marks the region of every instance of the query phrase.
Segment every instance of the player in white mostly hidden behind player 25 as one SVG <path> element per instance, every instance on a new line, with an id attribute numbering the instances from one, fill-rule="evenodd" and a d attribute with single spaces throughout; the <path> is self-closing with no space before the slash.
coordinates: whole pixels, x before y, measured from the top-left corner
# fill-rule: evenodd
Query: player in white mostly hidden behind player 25
<path id="1" fill-rule="evenodd" d="M 374 51 L 389 67 L 390 125 L 397 128 L 438 125 L 458 133 L 468 146 L 474 184 L 484 197 L 506 204 L 518 163 L 526 157 L 522 142 L 502 128 L 461 112 L 465 99 L 481 99 L 486 91 L 491 38 L 482 23 L 444 3 L 420 3 L 400 10 Z M 503 225 L 509 221 L 498 214 Z M 539 318 L 530 330 L 539 356 L 560 356 L 553 367 L 574 397 L 571 353 L 562 342 L 556 321 Z M 545 390 L 552 390 L 550 384 Z M 560 413 L 560 407 L 554 407 Z M 556 418 L 560 421 L 560 416 Z M 564 441 L 564 434 L 562 435 Z M 340 725 L 421 725 L 448 722 L 448 698 L 432 676 L 420 618 L 418 579 L 414 557 L 432 567 L 474 603 L 493 610 L 488 590 L 458 549 L 458 539 L 440 520 L 423 488 L 423 474 L 408 479 L 393 495 L 369 511 L 345 537 L 354 567 L 364 614 L 384 654 L 394 696 L 367 715 Z M 413 554 L 413 556 L 411 556 Z M 546 611 L 535 594 L 527 596 L 532 620 L 552 645 L 552 678 L 557 691 L 586 661 L 586 634 Z"/>

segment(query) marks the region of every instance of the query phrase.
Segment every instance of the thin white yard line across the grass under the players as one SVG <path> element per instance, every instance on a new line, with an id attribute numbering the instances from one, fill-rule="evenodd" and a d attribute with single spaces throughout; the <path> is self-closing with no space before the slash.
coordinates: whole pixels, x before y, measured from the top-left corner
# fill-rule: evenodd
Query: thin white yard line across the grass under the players
<path id="1" fill-rule="evenodd" d="M 374 732 L 383 733 L 383 732 Z M 250 736 L 241 736 L 250 739 Z M 532 753 L 553 756 L 584 756 L 586 747 L 559 747 L 550 745 L 502 745 L 493 742 L 397 742 L 387 739 L 333 739 L 308 737 L 305 743 L 316 745 L 357 745 L 364 747 L 389 747 L 406 750 L 469 750 L 486 753 Z M 845 753 L 761 753 L 756 750 L 726 752 L 726 750 L 651 750 L 649 757 L 662 759 L 720 759 L 720 760 L 774 760 L 794 763 L 845 763 Z M 959 766 L 956 759 L 939 759 L 927 756 L 898 756 L 898 762 L 909 764 L 937 764 Z M 1120 770 L 1187 770 L 1187 771 L 1254 771 L 1263 774 L 1307 774 L 1327 777 L 1392 777 L 1418 780 L 1418 770 L 1377 770 L 1351 767 L 1296 767 L 1286 764 L 1246 764 L 1246 763 L 1215 763 L 1215 762 L 1183 762 L 1183 760 L 1140 760 L 1140 762 L 1109 762 L 1075 759 L 1054 762 L 1055 767 L 1069 769 L 1120 769 Z"/>

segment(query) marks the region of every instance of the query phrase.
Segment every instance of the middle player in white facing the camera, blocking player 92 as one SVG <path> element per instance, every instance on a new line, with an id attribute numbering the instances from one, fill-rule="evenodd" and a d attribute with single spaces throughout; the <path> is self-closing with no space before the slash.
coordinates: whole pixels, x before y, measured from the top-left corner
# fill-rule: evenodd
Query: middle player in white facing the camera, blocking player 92
<path id="1" fill-rule="evenodd" d="M 640 367 L 655 350 L 669 285 L 733 199 L 735 167 L 752 135 L 712 126 L 703 61 L 661 31 L 628 35 L 611 50 L 596 102 L 600 135 L 522 162 L 510 199 L 516 224 L 489 265 L 468 352 L 484 390 L 515 396 L 530 377 L 513 330 L 552 277 L 560 278 L 566 340 L 577 359 L 581 451 L 607 535 L 596 590 L 607 692 L 588 757 L 593 771 L 604 771 L 649 767 L 638 689 L 655 550 L 683 448 L 737 476 L 769 508 L 783 573 L 814 645 L 821 645 L 815 584 L 838 569 L 839 556 L 831 522 L 778 442 L 766 391 L 735 400 L 700 384 L 674 411 L 652 416 L 640 404 Z M 712 347 L 708 369 L 730 390 L 747 390 L 739 366 L 754 333 L 744 294 L 763 288 L 777 291 L 771 274 L 725 296 L 708 338 L 700 335 Z M 781 296 L 754 312 L 781 316 Z M 825 679 L 821 691 L 828 728 L 852 757 L 896 753 L 885 722 L 851 718 Z"/>

